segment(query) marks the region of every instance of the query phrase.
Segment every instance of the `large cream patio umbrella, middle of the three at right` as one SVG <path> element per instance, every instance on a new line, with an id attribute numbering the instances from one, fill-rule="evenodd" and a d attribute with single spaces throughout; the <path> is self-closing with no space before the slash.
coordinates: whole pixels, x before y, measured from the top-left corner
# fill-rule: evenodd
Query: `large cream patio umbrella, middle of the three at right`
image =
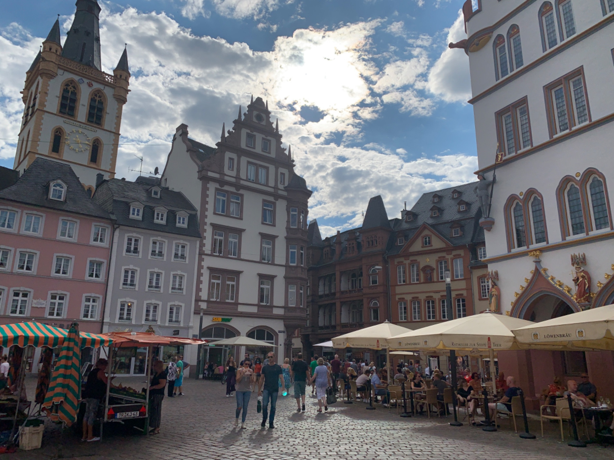
<path id="1" fill-rule="evenodd" d="M 416 331 L 395 335 L 387 342 L 394 350 L 461 350 L 470 351 L 472 355 L 488 353 L 491 358 L 492 387 L 496 393 L 494 353 L 497 350 L 518 349 L 511 330 L 529 324 L 533 323 L 487 310 L 478 315 L 443 321 Z"/>

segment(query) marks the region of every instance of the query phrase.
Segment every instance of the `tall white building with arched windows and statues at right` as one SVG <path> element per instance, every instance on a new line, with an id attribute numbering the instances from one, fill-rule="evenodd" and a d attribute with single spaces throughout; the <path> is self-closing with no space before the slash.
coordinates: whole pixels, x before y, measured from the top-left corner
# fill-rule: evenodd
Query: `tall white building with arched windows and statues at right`
<path id="1" fill-rule="evenodd" d="M 478 174 L 492 180 L 500 154 L 483 224 L 502 313 L 541 321 L 612 304 L 613 2 L 478 1 L 472 10 L 469 0 L 464 15 L 468 39 L 451 47 L 470 62 Z M 534 368 L 535 353 L 517 355 L 499 362 L 506 375 L 533 369 L 526 393 L 586 370 L 612 393 L 599 370 L 614 364 L 610 352 L 556 353 Z"/>

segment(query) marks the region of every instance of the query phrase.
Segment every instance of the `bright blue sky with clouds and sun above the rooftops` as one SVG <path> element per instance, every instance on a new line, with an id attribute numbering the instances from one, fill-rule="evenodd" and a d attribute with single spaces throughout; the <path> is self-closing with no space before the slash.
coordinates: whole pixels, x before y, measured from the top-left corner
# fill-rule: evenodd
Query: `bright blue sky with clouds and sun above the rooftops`
<path id="1" fill-rule="evenodd" d="M 475 180 L 462 0 L 99 0 L 103 71 L 128 47 L 116 177 L 164 167 L 181 123 L 219 141 L 254 94 L 279 119 L 322 237 L 362 224 L 381 194 L 400 217 L 427 191 Z M 71 0 L 4 2 L 0 165 L 13 166 L 25 72 Z"/>

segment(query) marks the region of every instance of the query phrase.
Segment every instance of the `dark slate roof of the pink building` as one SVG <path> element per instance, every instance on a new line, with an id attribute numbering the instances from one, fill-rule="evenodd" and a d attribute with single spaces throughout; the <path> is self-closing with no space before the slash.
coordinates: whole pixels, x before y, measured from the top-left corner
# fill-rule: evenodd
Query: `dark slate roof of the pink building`
<path id="1" fill-rule="evenodd" d="M 49 198 L 49 183 L 56 179 L 67 186 L 65 201 Z M 15 185 L 0 190 L 0 199 L 103 219 L 111 218 L 106 210 L 92 201 L 68 164 L 40 157 L 34 160 Z"/>

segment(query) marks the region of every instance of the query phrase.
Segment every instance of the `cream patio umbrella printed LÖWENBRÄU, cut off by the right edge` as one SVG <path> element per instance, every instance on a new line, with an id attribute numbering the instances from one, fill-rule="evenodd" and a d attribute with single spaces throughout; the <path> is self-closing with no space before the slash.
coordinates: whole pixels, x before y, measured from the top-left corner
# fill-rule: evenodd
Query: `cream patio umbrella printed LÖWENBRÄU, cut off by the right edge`
<path id="1" fill-rule="evenodd" d="M 512 332 L 521 347 L 614 351 L 614 305 L 530 323 Z"/>

